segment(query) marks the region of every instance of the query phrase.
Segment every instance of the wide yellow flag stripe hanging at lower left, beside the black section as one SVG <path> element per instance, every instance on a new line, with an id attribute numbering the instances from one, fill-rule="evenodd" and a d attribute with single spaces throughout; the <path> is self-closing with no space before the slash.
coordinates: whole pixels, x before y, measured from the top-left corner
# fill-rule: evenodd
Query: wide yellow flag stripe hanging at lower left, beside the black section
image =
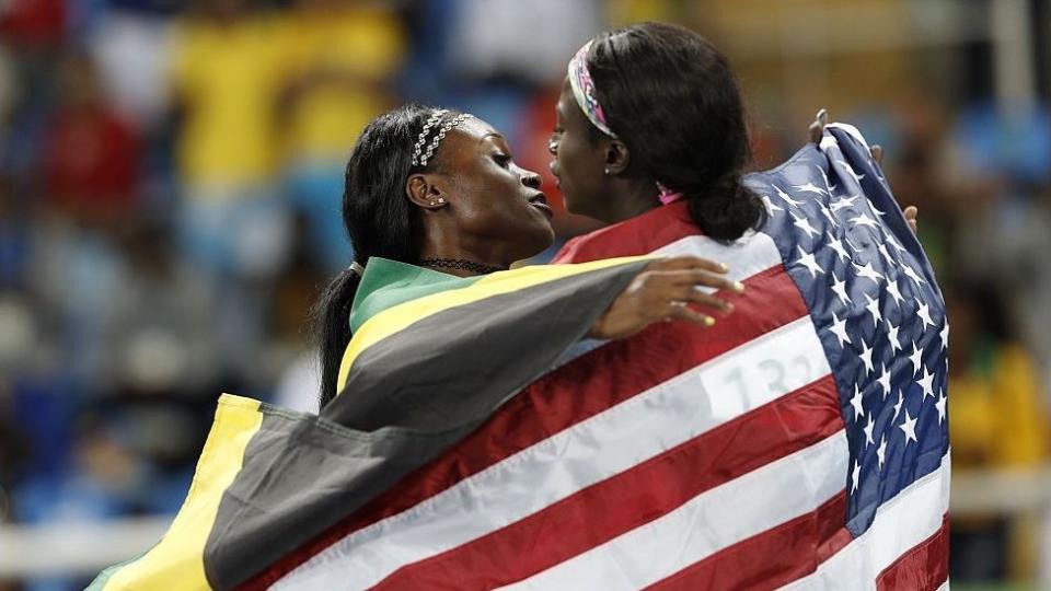
<path id="1" fill-rule="evenodd" d="M 104 591 L 210 589 L 205 577 L 205 543 L 219 512 L 222 493 L 241 471 L 244 450 L 259 430 L 259 402 L 223 394 L 197 462 L 183 507 L 164 537 L 141 558 L 116 570 Z"/>

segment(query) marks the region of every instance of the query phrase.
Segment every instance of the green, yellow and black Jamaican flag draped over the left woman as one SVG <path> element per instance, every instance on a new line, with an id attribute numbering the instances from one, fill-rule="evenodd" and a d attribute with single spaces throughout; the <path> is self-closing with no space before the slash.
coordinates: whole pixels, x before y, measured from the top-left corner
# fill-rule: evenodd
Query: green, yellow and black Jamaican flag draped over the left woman
<path id="1" fill-rule="evenodd" d="M 90 589 L 280 587 L 281 564 L 309 560 L 333 524 L 396 490 L 557 366 L 646 263 L 459 278 L 373 257 L 349 318 L 339 396 L 314 416 L 222 395 L 168 533 Z"/>

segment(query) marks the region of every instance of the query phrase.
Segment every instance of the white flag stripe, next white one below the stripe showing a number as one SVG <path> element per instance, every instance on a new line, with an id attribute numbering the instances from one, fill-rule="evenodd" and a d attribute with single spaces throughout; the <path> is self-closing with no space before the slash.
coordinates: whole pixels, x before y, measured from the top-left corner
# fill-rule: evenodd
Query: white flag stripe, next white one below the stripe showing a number
<path id="1" fill-rule="evenodd" d="M 674 511 L 501 589 L 642 589 L 843 491 L 846 431 L 707 490 Z"/>

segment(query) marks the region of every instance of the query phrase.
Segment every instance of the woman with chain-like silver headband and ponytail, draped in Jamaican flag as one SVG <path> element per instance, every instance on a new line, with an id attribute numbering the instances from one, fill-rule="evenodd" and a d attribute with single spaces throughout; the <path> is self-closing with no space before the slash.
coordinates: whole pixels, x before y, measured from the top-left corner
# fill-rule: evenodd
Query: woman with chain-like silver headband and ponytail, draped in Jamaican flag
<path id="1" fill-rule="evenodd" d="M 551 209 L 540 176 L 515 164 L 504 137 L 467 114 L 408 105 L 366 127 L 347 164 L 343 220 L 355 260 L 315 306 L 321 333 L 322 405 L 336 395 L 353 336 L 355 296 L 369 260 L 418 267 L 416 282 L 507 269 L 548 247 Z M 730 288 L 723 266 L 694 257 L 650 264 L 599 317 L 591 335 L 617 338 L 659 320 L 711 324 L 683 305 L 726 312 L 696 286 Z M 414 287 L 406 285 L 401 287 Z"/>

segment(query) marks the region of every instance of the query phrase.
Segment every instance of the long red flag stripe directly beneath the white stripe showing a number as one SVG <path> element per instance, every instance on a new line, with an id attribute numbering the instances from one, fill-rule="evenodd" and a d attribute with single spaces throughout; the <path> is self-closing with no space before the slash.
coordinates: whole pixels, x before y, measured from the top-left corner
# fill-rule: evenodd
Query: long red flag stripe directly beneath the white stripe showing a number
<path id="1" fill-rule="evenodd" d="M 842 429 L 840 396 L 829 374 L 516 523 L 406 565 L 373 589 L 430 589 L 451 581 L 457 589 L 492 589 L 526 579 Z M 833 529 L 843 526 L 845 513 L 838 514 Z M 812 554 L 820 540 L 796 542 L 809 543 Z M 785 548 L 765 549 L 771 556 L 752 559 L 764 563 Z"/>

